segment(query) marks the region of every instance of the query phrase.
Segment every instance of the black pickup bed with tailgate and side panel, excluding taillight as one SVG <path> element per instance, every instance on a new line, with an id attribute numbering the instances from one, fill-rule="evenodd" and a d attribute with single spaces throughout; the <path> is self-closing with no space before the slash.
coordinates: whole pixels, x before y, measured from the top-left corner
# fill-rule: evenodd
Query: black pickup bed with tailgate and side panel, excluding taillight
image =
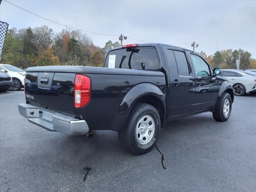
<path id="1" fill-rule="evenodd" d="M 48 82 L 44 82 L 46 73 Z M 74 108 L 76 74 L 84 74 L 91 79 L 91 100 L 79 109 Z M 165 75 L 161 71 L 88 66 L 33 67 L 26 70 L 26 102 L 84 119 L 90 130 L 119 130 L 121 127 L 113 122 L 127 118 L 124 97 L 134 86 L 144 82 L 166 92 Z"/>

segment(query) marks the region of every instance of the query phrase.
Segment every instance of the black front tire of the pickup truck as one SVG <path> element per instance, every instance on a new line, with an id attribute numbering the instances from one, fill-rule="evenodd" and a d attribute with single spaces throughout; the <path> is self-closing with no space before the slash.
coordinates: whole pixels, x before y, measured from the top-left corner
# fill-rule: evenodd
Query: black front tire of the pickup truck
<path id="1" fill-rule="evenodd" d="M 226 104 L 226 106 L 227 106 L 226 100 L 228 100 L 228 103 L 229 103 L 229 110 L 228 110 L 227 114 L 224 114 L 224 104 Z M 224 122 L 224 121 L 228 120 L 228 118 L 231 114 L 231 110 L 232 110 L 232 98 L 229 93 L 224 93 L 221 98 L 220 106 L 219 106 L 218 110 L 216 110 L 212 113 L 213 118 L 216 121 Z"/>

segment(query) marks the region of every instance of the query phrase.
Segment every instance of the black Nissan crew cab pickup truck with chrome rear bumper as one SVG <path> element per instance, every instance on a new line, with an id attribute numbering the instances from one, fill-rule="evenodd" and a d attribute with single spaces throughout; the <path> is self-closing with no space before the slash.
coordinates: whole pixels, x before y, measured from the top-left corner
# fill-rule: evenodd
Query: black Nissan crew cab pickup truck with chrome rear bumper
<path id="1" fill-rule="evenodd" d="M 219 74 L 196 52 L 130 44 L 110 50 L 103 67 L 27 68 L 26 103 L 18 109 L 50 131 L 117 131 L 124 148 L 144 154 L 153 148 L 165 120 L 202 112 L 228 120 L 234 94 Z"/>

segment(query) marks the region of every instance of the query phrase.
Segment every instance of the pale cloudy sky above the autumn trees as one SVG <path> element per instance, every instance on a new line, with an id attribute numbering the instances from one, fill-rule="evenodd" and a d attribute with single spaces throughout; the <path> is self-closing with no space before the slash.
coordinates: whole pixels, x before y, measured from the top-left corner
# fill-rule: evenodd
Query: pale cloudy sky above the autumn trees
<path id="1" fill-rule="evenodd" d="M 195 41 L 200 44 L 196 51 L 209 55 L 218 42 L 220 50 L 242 48 L 256 58 L 256 1 L 8 1 L 60 24 L 116 35 L 87 33 L 100 47 L 123 34 L 128 36 L 124 44 L 143 40 L 192 49 Z M 0 20 L 8 22 L 9 28 L 47 25 L 55 32 L 64 28 L 4 0 Z"/>

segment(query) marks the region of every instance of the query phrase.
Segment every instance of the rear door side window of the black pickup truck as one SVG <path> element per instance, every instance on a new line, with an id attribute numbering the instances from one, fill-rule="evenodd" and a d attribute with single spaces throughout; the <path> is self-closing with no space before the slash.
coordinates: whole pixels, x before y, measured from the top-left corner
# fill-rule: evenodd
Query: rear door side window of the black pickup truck
<path id="1" fill-rule="evenodd" d="M 188 61 L 186 59 L 185 53 L 182 51 L 174 50 L 174 55 L 178 66 L 178 73 L 180 75 L 189 75 Z"/>

